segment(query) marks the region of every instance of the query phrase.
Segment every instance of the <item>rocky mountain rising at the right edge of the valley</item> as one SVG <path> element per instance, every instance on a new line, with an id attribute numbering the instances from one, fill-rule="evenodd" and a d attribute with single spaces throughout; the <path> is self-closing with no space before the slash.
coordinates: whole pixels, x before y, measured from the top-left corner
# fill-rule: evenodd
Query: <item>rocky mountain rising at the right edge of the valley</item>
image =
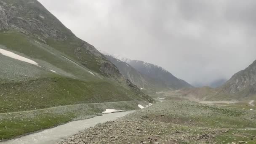
<path id="1" fill-rule="evenodd" d="M 256 61 L 240 72 L 233 75 L 222 87 L 221 91 L 241 98 L 250 98 L 256 95 Z"/>

